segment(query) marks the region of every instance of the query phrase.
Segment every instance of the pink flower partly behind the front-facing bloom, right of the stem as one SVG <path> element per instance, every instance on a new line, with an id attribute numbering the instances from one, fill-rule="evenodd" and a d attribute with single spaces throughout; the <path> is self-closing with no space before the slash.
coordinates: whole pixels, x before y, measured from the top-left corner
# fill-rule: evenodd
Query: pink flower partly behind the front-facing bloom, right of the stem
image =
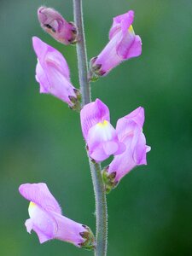
<path id="1" fill-rule="evenodd" d="M 123 154 L 116 155 L 103 171 L 108 192 L 134 167 L 147 165 L 146 154 L 150 147 L 146 146 L 143 123 L 144 109 L 141 107 L 118 120 L 116 131 L 119 142 L 125 143 L 126 150 Z"/>

